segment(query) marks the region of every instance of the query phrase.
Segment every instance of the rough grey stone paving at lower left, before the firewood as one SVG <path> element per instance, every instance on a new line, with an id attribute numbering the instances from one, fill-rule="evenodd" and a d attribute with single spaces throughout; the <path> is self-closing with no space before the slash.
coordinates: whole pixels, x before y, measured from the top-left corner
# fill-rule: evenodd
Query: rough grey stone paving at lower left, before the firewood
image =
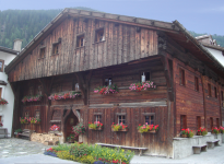
<path id="1" fill-rule="evenodd" d="M 0 139 L 0 159 L 13 157 L 31 154 L 43 154 L 45 149 L 51 145 L 44 145 L 43 143 L 32 142 L 24 139 Z"/>

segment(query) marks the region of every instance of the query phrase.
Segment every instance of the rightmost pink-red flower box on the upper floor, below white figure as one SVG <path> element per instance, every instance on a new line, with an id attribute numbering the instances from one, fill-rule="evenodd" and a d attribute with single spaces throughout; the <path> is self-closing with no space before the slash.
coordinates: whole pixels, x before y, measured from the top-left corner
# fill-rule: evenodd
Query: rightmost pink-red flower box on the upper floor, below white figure
<path id="1" fill-rule="evenodd" d="M 142 90 L 156 89 L 156 85 L 154 85 L 152 81 L 145 81 L 145 82 L 132 83 L 130 84 L 129 89 L 131 91 L 140 92 Z"/>

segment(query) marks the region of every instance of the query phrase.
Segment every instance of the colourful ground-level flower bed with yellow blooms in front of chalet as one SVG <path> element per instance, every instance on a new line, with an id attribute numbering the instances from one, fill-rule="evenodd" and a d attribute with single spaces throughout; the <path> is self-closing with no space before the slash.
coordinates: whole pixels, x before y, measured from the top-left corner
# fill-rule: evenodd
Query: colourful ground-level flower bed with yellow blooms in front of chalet
<path id="1" fill-rule="evenodd" d="M 44 154 L 89 164 L 129 164 L 134 155 L 133 152 L 122 149 L 102 148 L 96 144 L 89 145 L 85 143 L 59 144 L 46 150 Z"/>

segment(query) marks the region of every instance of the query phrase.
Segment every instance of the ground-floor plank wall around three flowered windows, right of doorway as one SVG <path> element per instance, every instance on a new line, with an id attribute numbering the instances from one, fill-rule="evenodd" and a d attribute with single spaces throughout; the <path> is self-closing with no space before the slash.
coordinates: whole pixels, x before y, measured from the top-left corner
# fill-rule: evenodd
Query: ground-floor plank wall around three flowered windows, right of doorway
<path id="1" fill-rule="evenodd" d="M 89 108 L 82 112 L 84 124 L 87 127 L 89 121 L 94 121 L 94 113 L 102 113 L 102 120 L 104 128 L 102 131 L 87 130 L 87 143 L 109 143 L 129 147 L 143 147 L 148 148 L 149 154 L 172 156 L 172 147 L 168 144 L 168 136 L 173 130 L 168 131 L 167 127 L 172 126 L 168 122 L 167 107 L 144 107 L 144 108 Z M 127 116 L 127 132 L 113 132 L 113 122 L 117 124 L 116 113 L 126 113 Z M 139 124 L 144 124 L 144 113 L 155 113 L 155 125 L 160 125 L 157 133 L 138 132 Z"/>

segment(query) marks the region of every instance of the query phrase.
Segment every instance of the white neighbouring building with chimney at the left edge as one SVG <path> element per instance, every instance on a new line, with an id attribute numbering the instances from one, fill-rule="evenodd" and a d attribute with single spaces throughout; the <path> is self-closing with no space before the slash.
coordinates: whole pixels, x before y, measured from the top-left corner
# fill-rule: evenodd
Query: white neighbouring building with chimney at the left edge
<path id="1" fill-rule="evenodd" d="M 2 128 L 8 129 L 8 137 L 11 137 L 12 131 L 14 94 L 8 82 L 4 68 L 16 57 L 17 52 L 21 51 L 21 39 L 14 40 L 13 49 L 0 46 L 0 96 L 9 103 L 7 105 L 0 105 L 0 121 L 3 124 Z"/>

